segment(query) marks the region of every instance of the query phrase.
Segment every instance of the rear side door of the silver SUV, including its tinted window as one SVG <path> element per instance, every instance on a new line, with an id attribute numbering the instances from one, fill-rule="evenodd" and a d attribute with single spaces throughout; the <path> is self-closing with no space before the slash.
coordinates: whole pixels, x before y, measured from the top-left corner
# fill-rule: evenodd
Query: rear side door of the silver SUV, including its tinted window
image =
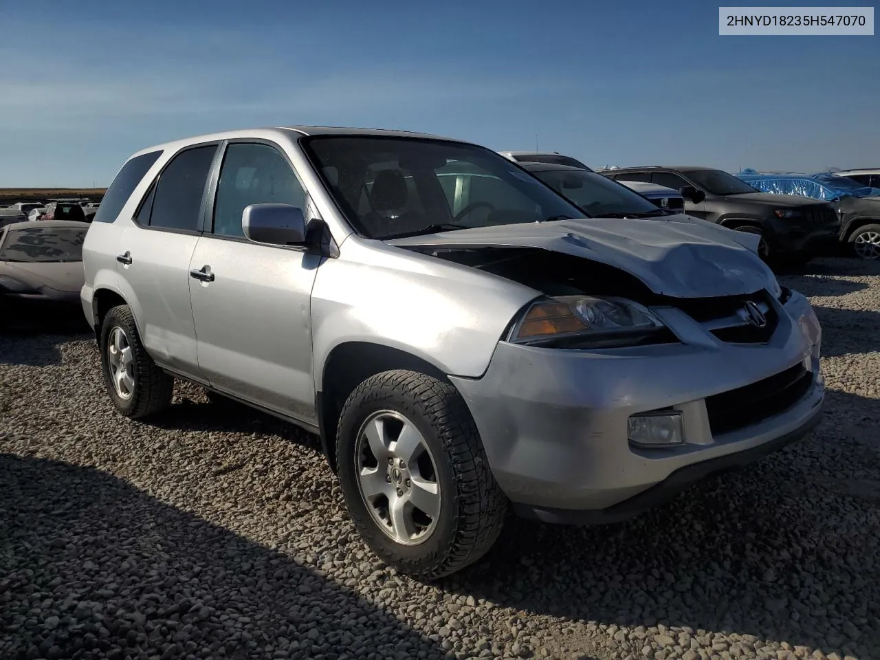
<path id="1" fill-rule="evenodd" d="M 117 269 L 134 292 L 144 347 L 161 366 L 199 380 L 189 261 L 202 233 L 217 146 L 189 147 L 165 165 L 123 232 L 117 256 Z"/>

